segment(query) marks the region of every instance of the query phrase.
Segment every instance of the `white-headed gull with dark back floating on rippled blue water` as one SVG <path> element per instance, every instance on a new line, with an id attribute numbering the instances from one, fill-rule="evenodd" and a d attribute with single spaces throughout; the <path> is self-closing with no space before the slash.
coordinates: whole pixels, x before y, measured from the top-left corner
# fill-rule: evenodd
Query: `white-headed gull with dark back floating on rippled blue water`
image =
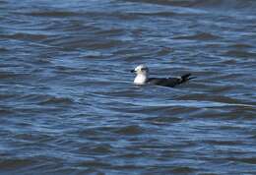
<path id="1" fill-rule="evenodd" d="M 184 74 L 177 78 L 149 78 L 149 68 L 145 65 L 139 65 L 134 70 L 131 71 L 136 74 L 134 79 L 135 85 L 146 85 L 153 84 L 161 87 L 175 87 L 177 85 L 183 84 L 195 77 L 190 77 L 191 74 Z"/>

